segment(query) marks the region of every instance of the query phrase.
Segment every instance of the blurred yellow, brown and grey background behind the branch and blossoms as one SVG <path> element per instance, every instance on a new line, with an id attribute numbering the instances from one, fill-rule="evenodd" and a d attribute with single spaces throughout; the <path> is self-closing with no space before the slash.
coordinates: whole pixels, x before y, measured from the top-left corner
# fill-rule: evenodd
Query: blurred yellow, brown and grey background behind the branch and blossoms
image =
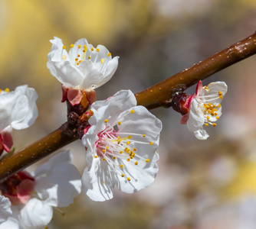
<path id="1" fill-rule="evenodd" d="M 0 0 L 1 88 L 28 84 L 39 95 L 38 120 L 13 133 L 16 149 L 66 121 L 61 83 L 46 67 L 54 36 L 67 47 L 86 37 L 120 56 L 117 73 L 97 89 L 105 99 L 120 89 L 142 91 L 204 60 L 253 34 L 255 22 L 254 0 Z M 61 209 L 64 216 L 54 212 L 49 228 L 256 228 L 255 60 L 203 82 L 228 84 L 222 118 L 208 127 L 208 140 L 197 140 L 172 108 L 153 110 L 163 123 L 156 181 L 133 195 L 116 190 L 108 202 L 82 193 Z M 80 141 L 65 149 L 82 173 Z"/>

